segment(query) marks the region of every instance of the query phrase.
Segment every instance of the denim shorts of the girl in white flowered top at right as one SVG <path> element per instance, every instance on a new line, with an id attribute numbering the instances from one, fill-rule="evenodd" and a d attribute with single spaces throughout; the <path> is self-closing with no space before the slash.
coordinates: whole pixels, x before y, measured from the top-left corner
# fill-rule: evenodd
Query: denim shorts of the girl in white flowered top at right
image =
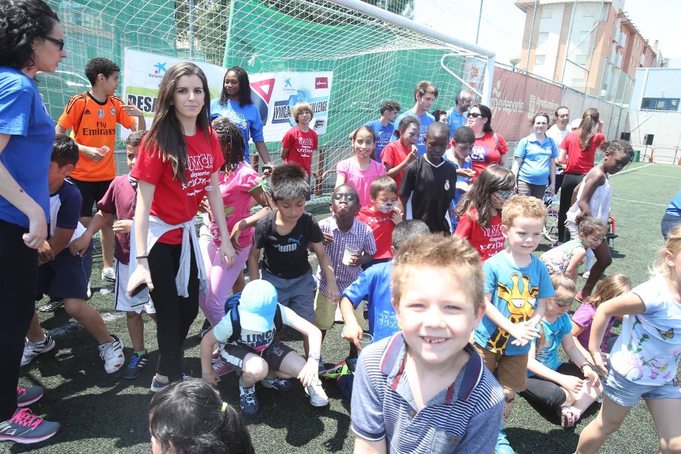
<path id="1" fill-rule="evenodd" d="M 612 367 L 608 368 L 607 378 L 603 381 L 603 392 L 618 405 L 631 407 L 642 398 L 681 399 L 681 387 L 676 380 L 664 385 L 639 385 L 618 374 Z"/>

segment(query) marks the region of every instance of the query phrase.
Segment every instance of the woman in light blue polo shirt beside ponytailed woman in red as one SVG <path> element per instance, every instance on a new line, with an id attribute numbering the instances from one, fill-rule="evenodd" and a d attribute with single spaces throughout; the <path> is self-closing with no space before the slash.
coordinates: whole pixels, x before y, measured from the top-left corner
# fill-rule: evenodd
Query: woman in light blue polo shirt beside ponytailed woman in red
<path id="1" fill-rule="evenodd" d="M 511 171 L 518 180 L 518 194 L 543 199 L 546 182 L 551 195 L 556 192 L 556 159 L 558 146 L 546 135 L 549 125 L 547 114 L 535 114 L 530 123 L 535 132 L 520 139 L 513 153 Z"/>

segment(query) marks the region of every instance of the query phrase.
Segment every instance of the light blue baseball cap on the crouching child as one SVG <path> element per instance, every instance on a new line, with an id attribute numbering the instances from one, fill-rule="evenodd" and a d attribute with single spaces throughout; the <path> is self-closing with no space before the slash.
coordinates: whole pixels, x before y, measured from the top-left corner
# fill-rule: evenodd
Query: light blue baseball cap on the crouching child
<path id="1" fill-rule="evenodd" d="M 264 333 L 272 329 L 276 312 L 276 289 L 266 280 L 251 280 L 241 292 L 239 320 L 242 329 Z"/>

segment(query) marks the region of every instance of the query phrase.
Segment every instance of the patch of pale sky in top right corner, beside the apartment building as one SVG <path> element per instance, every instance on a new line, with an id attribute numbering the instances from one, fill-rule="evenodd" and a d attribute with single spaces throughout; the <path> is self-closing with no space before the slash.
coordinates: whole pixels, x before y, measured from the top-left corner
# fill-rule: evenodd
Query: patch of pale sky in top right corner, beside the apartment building
<path id="1" fill-rule="evenodd" d="M 622 8 L 650 46 L 659 39 L 659 50 L 665 59 L 681 59 L 678 21 L 681 2 L 670 0 L 625 0 Z"/>

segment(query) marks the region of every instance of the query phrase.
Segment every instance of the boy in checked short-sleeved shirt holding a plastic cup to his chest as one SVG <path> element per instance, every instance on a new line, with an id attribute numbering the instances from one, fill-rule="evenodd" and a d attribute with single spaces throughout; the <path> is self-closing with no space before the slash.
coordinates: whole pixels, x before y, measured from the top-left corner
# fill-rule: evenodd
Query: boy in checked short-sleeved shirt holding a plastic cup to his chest
<path id="1" fill-rule="evenodd" d="M 331 265 L 336 276 L 336 286 L 339 292 L 343 292 L 352 282 L 360 276 L 362 265 L 373 260 L 376 253 L 376 242 L 374 233 L 368 225 L 355 219 L 355 215 L 360 211 L 360 196 L 355 188 L 349 184 L 341 184 L 334 189 L 331 196 L 330 210 L 332 216 L 319 221 L 319 228 L 324 235 L 324 250 L 326 250 Z M 358 252 L 349 256 L 349 261 L 345 263 L 345 246 L 351 244 L 356 246 Z M 326 334 L 327 329 L 334 325 L 334 315 L 338 304 L 329 302 L 326 298 L 326 276 L 321 272 L 321 267 L 317 270 L 317 295 L 315 295 L 315 325 L 321 329 L 321 336 Z M 364 321 L 364 311 L 362 306 L 355 309 L 355 319 L 358 323 Z M 355 344 L 350 345 L 349 358 L 358 356 Z M 321 357 L 319 358 L 319 373 L 326 368 L 323 366 Z"/>

